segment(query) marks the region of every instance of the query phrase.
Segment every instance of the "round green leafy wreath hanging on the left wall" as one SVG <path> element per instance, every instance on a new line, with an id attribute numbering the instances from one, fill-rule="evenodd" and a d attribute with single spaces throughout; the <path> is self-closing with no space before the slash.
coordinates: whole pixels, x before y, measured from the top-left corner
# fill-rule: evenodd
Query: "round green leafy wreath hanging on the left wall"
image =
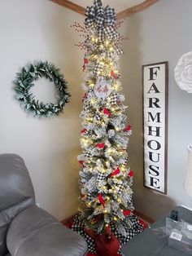
<path id="1" fill-rule="evenodd" d="M 57 104 L 43 104 L 34 99 L 35 96 L 30 93 L 34 82 L 41 77 L 46 77 L 50 82 L 55 83 Z M 52 117 L 58 115 L 68 103 L 71 95 L 67 85 L 68 82 L 64 80 L 63 74 L 59 73 L 59 68 L 55 68 L 54 64 L 48 61 L 29 64 L 22 68 L 21 73 L 16 73 L 16 99 L 20 101 L 25 110 L 33 112 L 35 117 Z"/>

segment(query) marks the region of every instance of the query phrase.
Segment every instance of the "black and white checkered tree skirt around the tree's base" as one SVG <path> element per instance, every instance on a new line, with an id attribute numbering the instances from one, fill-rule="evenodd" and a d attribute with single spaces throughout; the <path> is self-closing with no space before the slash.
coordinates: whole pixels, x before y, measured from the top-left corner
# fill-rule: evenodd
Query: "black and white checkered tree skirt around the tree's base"
<path id="1" fill-rule="evenodd" d="M 136 236 L 137 234 L 143 231 L 142 224 L 139 223 L 138 218 L 134 214 L 129 216 L 129 219 L 131 220 L 132 228 L 124 226 L 126 236 L 122 236 L 119 232 L 117 232 L 115 225 L 113 223 L 110 223 L 111 231 L 120 241 L 120 248 L 122 245 L 126 244 L 130 239 L 132 239 L 133 236 Z M 72 220 L 72 230 L 79 233 L 81 236 L 85 238 L 85 241 L 88 244 L 89 253 L 97 254 L 94 247 L 94 240 L 85 232 L 84 228 L 85 225 L 82 223 L 80 215 L 76 214 L 76 216 Z"/>

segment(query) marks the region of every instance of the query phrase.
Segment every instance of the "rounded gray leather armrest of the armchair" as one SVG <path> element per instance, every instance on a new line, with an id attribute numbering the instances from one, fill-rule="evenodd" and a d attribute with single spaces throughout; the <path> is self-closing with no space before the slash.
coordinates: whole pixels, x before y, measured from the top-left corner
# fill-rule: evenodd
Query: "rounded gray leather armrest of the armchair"
<path id="1" fill-rule="evenodd" d="M 36 205 L 22 211 L 7 233 L 12 256 L 83 256 L 85 240 Z"/>

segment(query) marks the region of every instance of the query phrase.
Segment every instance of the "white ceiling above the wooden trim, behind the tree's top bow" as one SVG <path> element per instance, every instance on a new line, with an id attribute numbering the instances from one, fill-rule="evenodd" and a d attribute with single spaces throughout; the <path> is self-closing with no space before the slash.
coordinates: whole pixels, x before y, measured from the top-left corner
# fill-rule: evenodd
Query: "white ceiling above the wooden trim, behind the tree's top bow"
<path id="1" fill-rule="evenodd" d="M 78 4 L 81 7 L 88 7 L 93 5 L 94 0 L 71 0 Z M 129 7 L 136 6 L 139 3 L 145 2 L 145 0 L 103 0 L 103 6 L 109 5 L 110 7 L 114 7 L 116 12 L 124 11 Z"/>

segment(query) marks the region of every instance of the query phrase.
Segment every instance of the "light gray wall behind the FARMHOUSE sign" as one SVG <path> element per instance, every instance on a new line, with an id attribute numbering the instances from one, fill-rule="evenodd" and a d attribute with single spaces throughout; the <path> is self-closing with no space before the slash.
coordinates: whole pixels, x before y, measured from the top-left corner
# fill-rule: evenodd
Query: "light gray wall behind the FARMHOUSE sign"
<path id="1" fill-rule="evenodd" d="M 134 206 L 158 218 L 174 205 L 192 208 L 192 198 L 183 189 L 186 146 L 192 143 L 192 95 L 180 90 L 173 79 L 177 60 L 192 51 L 192 1 L 160 0 L 146 11 L 130 16 L 124 24 L 129 34 L 124 44 L 122 75 L 129 105 L 133 136 L 129 144 L 130 166 L 135 171 Z M 168 60 L 168 195 L 142 184 L 142 64 Z"/>

